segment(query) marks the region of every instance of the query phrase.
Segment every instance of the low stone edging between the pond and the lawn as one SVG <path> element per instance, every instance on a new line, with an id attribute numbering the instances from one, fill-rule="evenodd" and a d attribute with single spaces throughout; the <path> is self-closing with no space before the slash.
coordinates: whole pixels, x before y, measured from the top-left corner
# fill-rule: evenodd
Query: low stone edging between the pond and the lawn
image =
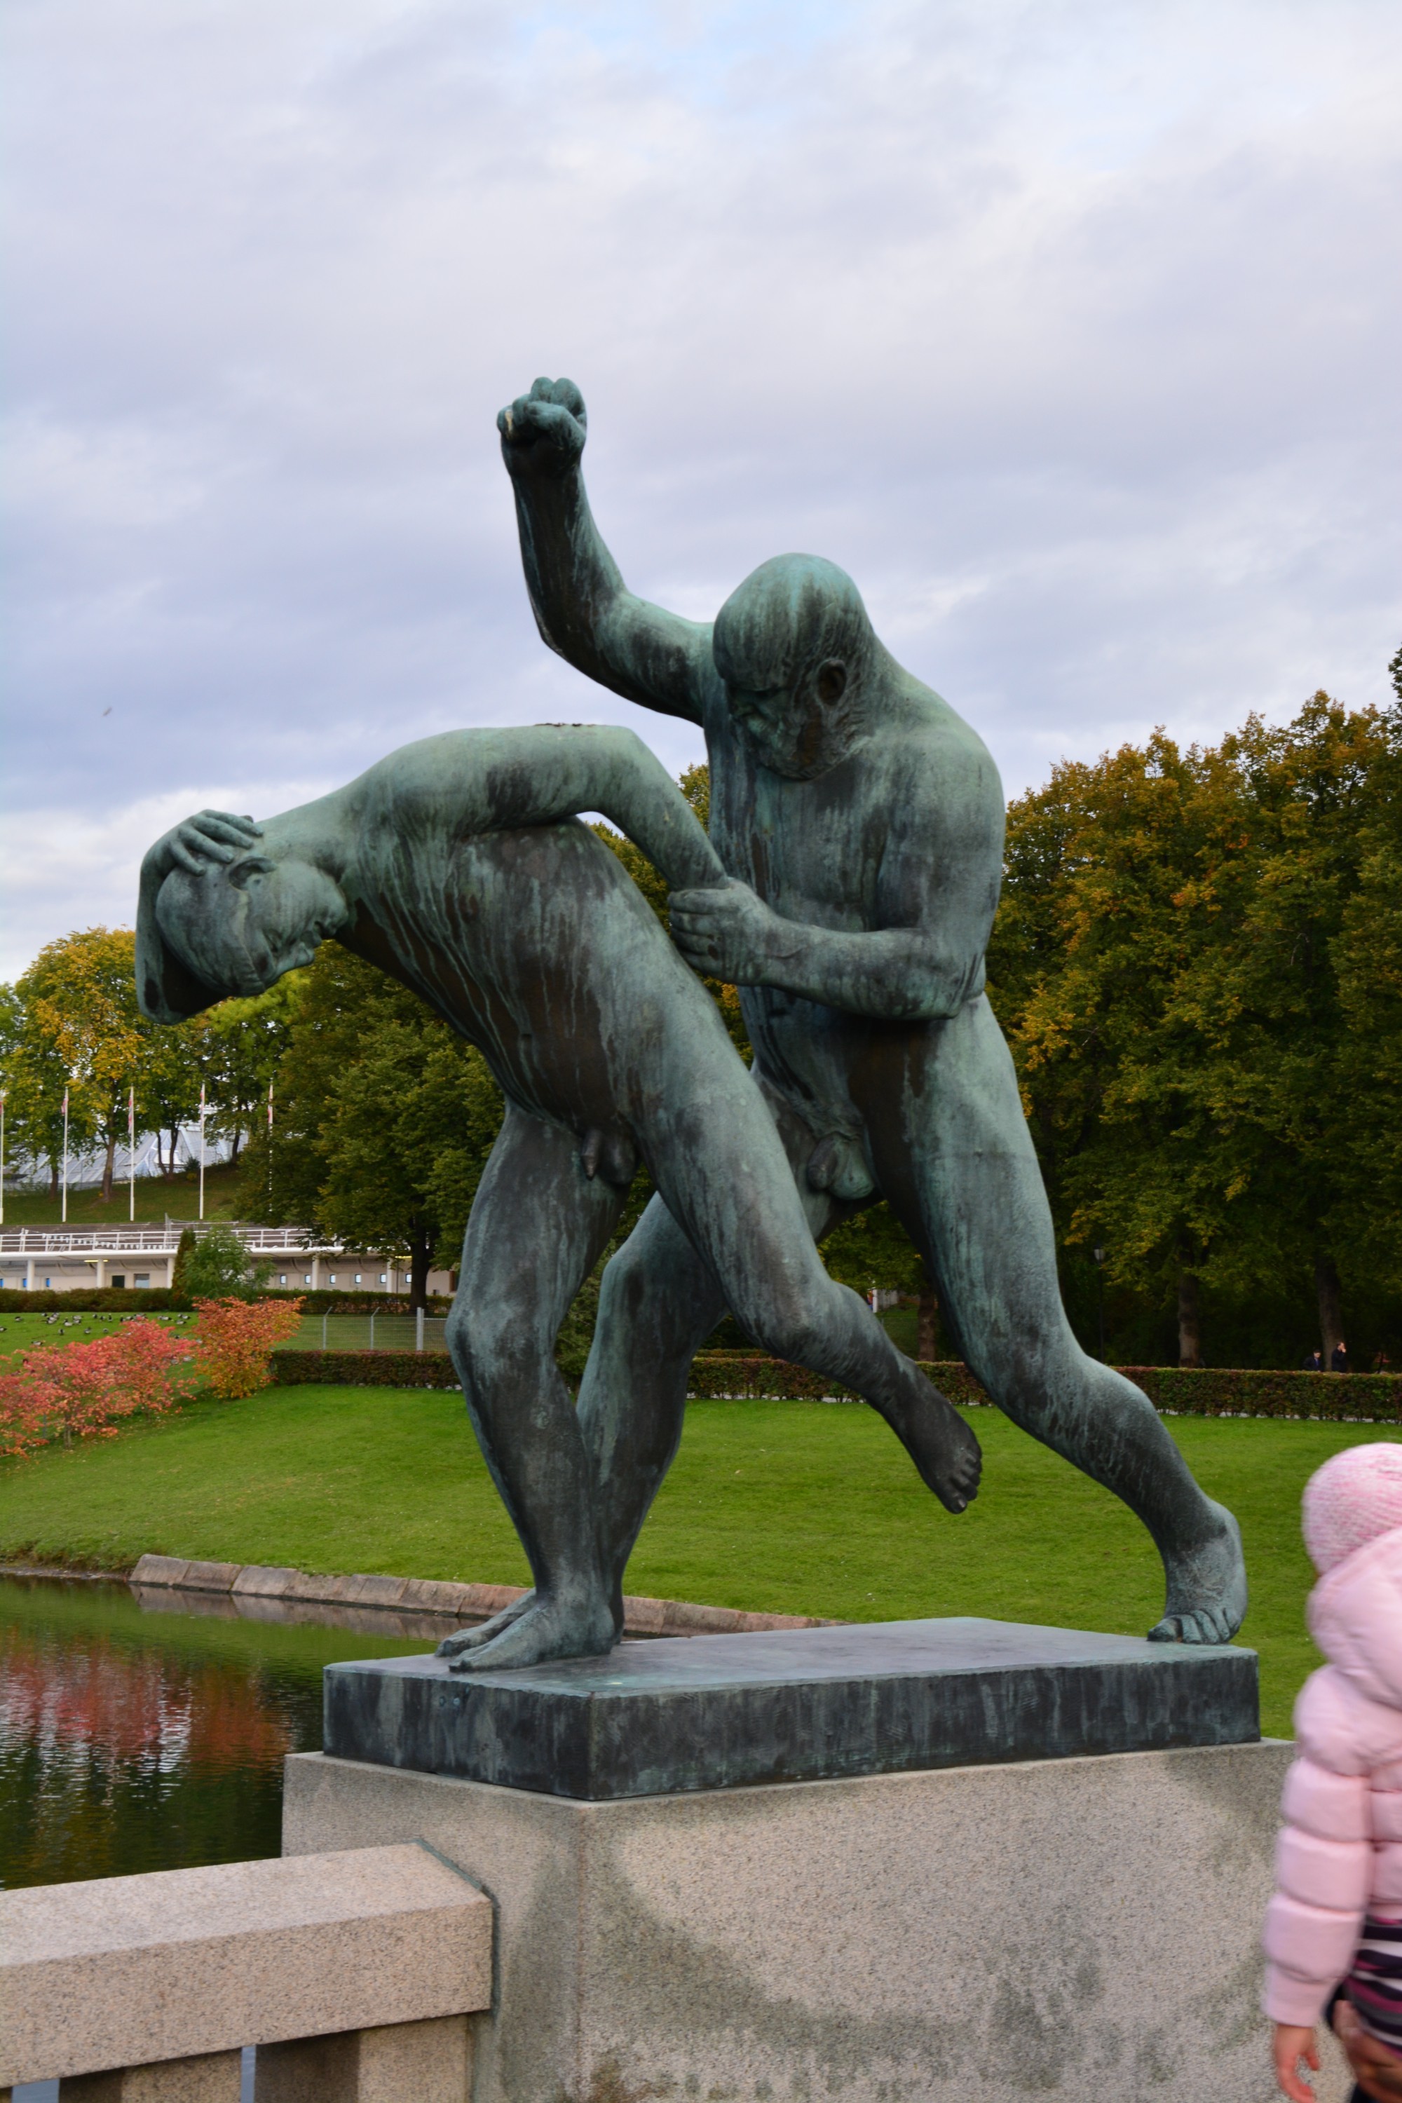
<path id="1" fill-rule="evenodd" d="M 181 1592 L 229 1592 L 235 1598 L 307 1600 L 334 1607 L 387 1607 L 395 1613 L 448 1615 L 486 1621 L 523 1596 L 515 1584 L 452 1584 L 441 1577 L 349 1575 L 315 1577 L 267 1563 L 183 1563 L 179 1556 L 141 1556 L 132 1586 L 168 1586 Z M 624 1598 L 628 1636 L 752 1636 L 786 1628 L 837 1628 L 795 1613 L 742 1613 L 738 1607 L 698 1607 L 679 1598 Z"/>

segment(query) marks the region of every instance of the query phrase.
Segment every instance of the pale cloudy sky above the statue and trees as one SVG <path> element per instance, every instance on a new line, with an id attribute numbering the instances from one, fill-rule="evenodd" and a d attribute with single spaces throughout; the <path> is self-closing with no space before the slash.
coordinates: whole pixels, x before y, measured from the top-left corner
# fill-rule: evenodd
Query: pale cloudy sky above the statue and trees
<path id="1" fill-rule="evenodd" d="M 628 583 L 841 562 L 1009 793 L 1402 639 L 1396 0 L 4 0 L 4 942 L 553 660 L 494 414 Z"/>

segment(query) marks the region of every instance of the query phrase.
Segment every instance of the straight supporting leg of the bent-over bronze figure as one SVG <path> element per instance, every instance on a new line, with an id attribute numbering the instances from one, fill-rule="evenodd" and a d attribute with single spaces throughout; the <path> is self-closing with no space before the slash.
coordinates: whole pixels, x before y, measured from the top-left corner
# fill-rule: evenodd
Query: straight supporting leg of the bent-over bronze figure
<path id="1" fill-rule="evenodd" d="M 616 1188 L 584 1176 L 570 1134 L 507 1108 L 462 1241 L 448 1350 L 536 1590 L 492 1640 L 465 1630 L 439 1645 L 460 1670 L 593 1657 L 614 1645 L 593 1468 L 555 1338 L 620 1205 Z"/>

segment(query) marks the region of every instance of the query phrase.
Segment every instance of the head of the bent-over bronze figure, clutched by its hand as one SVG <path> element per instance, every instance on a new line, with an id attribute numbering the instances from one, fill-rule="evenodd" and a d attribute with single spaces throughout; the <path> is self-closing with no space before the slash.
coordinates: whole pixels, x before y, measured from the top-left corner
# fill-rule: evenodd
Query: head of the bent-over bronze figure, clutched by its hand
<path id="1" fill-rule="evenodd" d="M 156 921 L 187 972 L 214 999 L 267 993 L 349 919 L 341 885 L 294 854 L 244 854 L 172 869 L 156 894 Z"/>

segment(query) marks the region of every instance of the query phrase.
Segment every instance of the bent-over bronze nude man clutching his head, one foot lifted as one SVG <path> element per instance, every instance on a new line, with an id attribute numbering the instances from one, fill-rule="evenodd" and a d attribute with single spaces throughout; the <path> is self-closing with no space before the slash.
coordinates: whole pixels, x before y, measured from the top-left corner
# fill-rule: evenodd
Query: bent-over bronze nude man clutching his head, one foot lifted
<path id="1" fill-rule="evenodd" d="M 448 1348 L 536 1588 L 519 1615 L 441 1645 L 460 1670 L 589 1657 L 622 1632 L 593 1462 L 553 1352 L 639 1155 L 696 1241 L 708 1300 L 780 1356 L 858 1388 L 950 1510 L 977 1489 L 973 1432 L 822 1268 L 715 1003 L 618 858 L 568 816 L 589 810 L 668 883 L 725 881 L 633 732 L 553 728 L 425 738 L 263 826 L 206 812 L 141 871 L 137 991 L 153 1020 L 261 993 L 334 936 L 479 1045 L 507 1096 Z M 633 1502 L 645 1510 L 654 1491 L 645 1472 Z"/>

